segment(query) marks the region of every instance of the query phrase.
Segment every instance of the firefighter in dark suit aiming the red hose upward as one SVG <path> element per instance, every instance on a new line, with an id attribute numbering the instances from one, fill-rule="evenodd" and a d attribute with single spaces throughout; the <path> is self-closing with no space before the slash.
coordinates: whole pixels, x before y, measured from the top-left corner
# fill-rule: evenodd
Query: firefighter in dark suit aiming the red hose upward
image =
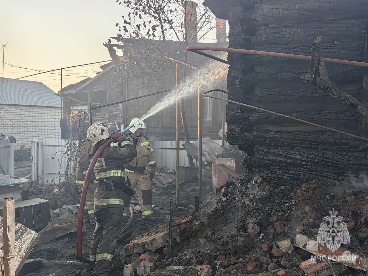
<path id="1" fill-rule="evenodd" d="M 104 148 L 94 167 L 98 186 L 95 191 L 96 228 L 91 247 L 91 275 L 108 276 L 123 226 L 124 208 L 129 208 L 134 194 L 125 175 L 124 164 L 137 156 L 137 150 L 126 135 L 114 132 L 110 136 L 107 127 L 100 123 L 92 124 L 87 132 L 93 146 L 89 155 L 94 155 L 109 137 L 118 143 L 118 146 Z"/>

